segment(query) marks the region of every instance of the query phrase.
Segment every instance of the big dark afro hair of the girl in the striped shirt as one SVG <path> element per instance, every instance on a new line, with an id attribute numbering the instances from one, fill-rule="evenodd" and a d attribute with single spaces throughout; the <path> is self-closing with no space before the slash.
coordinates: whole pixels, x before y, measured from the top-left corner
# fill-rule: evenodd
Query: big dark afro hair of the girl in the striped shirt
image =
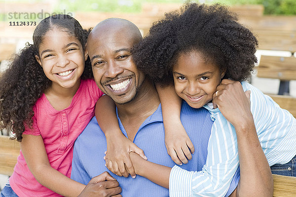
<path id="1" fill-rule="evenodd" d="M 224 78 L 246 80 L 257 62 L 257 46 L 256 37 L 227 6 L 185 3 L 153 23 L 132 53 L 140 70 L 154 83 L 166 86 L 173 82 L 172 66 L 179 55 L 192 50 L 226 69 Z"/>

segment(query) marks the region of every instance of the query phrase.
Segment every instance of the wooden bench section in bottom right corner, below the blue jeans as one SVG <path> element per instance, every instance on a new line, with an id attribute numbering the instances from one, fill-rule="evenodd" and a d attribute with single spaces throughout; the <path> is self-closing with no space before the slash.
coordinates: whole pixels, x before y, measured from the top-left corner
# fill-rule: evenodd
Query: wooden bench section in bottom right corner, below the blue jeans
<path id="1" fill-rule="evenodd" d="M 273 174 L 273 197 L 296 197 L 296 177 Z"/>

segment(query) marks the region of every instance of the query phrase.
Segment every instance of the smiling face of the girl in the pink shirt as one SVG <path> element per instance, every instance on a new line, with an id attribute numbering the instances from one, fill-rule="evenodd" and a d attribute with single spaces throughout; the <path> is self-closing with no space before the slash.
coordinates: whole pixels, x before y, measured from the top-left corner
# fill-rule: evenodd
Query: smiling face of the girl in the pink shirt
<path id="1" fill-rule="evenodd" d="M 80 41 L 67 32 L 49 30 L 39 45 L 37 62 L 42 66 L 52 87 L 72 88 L 80 83 L 85 58 Z"/>

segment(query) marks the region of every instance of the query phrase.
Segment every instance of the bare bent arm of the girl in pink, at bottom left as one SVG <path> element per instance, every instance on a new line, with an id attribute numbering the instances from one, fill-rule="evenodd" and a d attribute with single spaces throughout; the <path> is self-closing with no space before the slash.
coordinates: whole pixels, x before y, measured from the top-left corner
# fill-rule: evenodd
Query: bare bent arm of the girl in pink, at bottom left
<path id="1" fill-rule="evenodd" d="M 65 197 L 77 197 L 84 189 L 85 185 L 50 166 L 41 135 L 23 134 L 20 146 L 30 171 L 41 185 Z"/>

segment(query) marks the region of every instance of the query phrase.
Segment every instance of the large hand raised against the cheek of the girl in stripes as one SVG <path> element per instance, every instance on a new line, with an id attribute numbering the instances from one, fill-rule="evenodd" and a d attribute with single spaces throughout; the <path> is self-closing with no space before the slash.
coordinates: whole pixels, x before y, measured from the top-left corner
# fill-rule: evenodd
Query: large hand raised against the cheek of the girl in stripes
<path id="1" fill-rule="evenodd" d="M 251 91 L 244 92 L 240 82 L 223 79 L 213 95 L 214 108 L 219 107 L 222 115 L 234 127 L 253 122 L 251 112 Z"/>

